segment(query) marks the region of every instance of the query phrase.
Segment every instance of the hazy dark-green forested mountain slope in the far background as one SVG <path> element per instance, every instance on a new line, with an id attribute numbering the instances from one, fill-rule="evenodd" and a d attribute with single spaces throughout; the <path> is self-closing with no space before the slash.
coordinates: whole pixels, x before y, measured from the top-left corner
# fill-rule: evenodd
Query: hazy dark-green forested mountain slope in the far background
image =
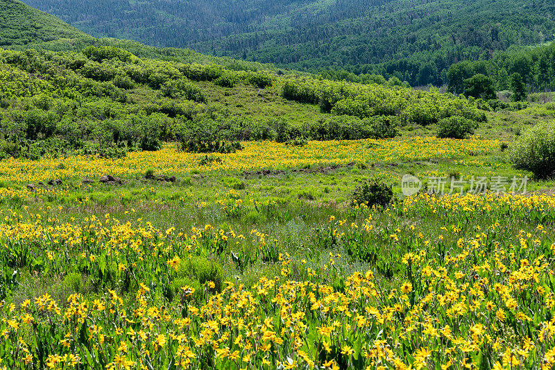
<path id="1" fill-rule="evenodd" d="M 96 36 L 281 67 L 447 83 L 461 60 L 553 40 L 547 0 L 26 0 Z"/>

